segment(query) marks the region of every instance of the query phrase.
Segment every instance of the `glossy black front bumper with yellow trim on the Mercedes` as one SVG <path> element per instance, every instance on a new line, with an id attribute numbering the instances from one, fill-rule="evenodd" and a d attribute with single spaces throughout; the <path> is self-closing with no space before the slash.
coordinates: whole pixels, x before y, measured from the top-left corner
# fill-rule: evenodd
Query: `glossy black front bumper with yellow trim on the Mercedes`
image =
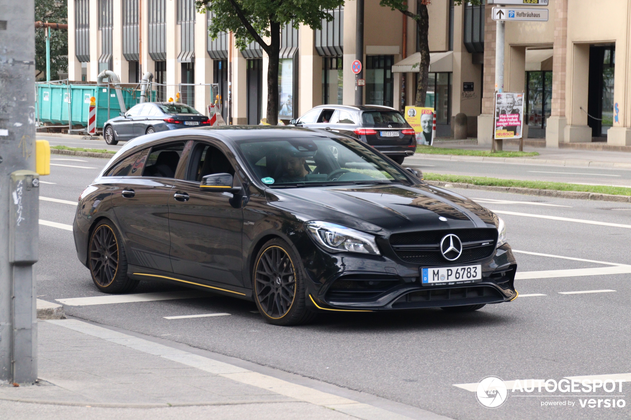
<path id="1" fill-rule="evenodd" d="M 322 283 L 317 279 L 308 281 L 307 304 L 312 310 L 363 312 L 498 304 L 517 297 L 514 288 L 517 262 L 508 244 L 496 249 L 487 261 L 467 263 L 481 264 L 482 280 L 460 285 L 423 287 L 419 264 L 401 264 L 387 257 L 331 258 L 338 259 L 336 265 L 342 270 Z"/>

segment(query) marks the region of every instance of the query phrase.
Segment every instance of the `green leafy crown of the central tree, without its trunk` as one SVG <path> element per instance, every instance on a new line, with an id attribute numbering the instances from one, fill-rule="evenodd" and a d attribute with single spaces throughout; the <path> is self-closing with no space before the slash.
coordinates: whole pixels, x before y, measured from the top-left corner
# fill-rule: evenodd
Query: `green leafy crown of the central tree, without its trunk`
<path id="1" fill-rule="evenodd" d="M 237 47 L 244 49 L 255 38 L 243 20 L 259 37 L 270 37 L 270 22 L 283 26 L 293 21 L 295 28 L 304 23 L 312 29 L 321 29 L 323 19 L 333 20 L 326 9 L 337 8 L 344 0 L 211 0 L 208 3 L 196 0 L 195 3 L 199 12 L 213 12 L 213 20 L 208 27 L 211 38 L 215 39 L 221 31 L 232 31 Z M 265 49 L 266 45 L 261 47 Z"/>

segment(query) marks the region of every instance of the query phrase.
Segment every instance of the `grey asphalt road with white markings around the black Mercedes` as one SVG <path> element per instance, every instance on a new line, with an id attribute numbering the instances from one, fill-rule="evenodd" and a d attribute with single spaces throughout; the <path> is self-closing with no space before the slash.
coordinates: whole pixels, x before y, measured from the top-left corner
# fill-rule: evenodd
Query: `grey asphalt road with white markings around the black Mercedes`
<path id="1" fill-rule="evenodd" d="M 52 174 L 42 177 L 46 183 L 41 186 L 41 196 L 76 201 L 105 160 L 78 158 L 63 164 L 83 167 L 53 166 Z M 623 392 L 616 389 L 609 394 L 603 390 L 572 394 L 509 389 L 504 406 L 493 410 L 478 404 L 474 392 L 454 385 L 476 383 L 488 375 L 506 381 L 559 381 L 564 377 L 631 372 L 631 267 L 627 270 L 625 265 L 612 265 L 631 264 L 631 205 L 454 191 L 473 194 L 472 198 L 485 207 L 502 212 L 509 243 L 516 251 L 526 252 L 516 254 L 518 271 L 522 272 L 519 276 L 534 278 L 516 280 L 522 297 L 514 302 L 487 305 L 470 314 L 448 314 L 440 309 L 326 314 L 300 327 L 271 326 L 251 312 L 256 310 L 253 303 L 220 296 L 66 306 L 66 313 L 298 373 L 454 419 L 628 417 L 627 407 L 582 408 L 579 399 L 616 395 L 616 399 L 631 400 L 618 397 L 627 395 L 625 387 L 631 383 L 623 385 Z M 70 225 L 73 217 L 72 204 L 40 201 L 42 220 Z M 618 270 L 617 274 L 604 274 L 611 267 Z M 102 296 L 76 258 L 72 232 L 68 230 L 40 225 L 36 270 L 40 299 L 55 302 Z M 553 270 L 576 271 L 568 275 L 550 273 Z M 529 271 L 546 273 L 524 274 Z M 546 275 L 550 277 L 541 278 Z M 142 282 L 134 293 L 173 290 L 183 289 Z M 593 290 L 611 291 L 560 293 Z M 215 312 L 230 316 L 163 318 Z M 541 406 L 546 401 L 570 401 L 575 405 Z"/>

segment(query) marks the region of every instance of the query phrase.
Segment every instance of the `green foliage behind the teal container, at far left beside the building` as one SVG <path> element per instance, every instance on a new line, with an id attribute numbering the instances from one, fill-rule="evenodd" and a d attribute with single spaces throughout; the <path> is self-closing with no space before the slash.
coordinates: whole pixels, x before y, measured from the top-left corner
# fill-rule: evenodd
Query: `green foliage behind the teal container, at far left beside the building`
<path id="1" fill-rule="evenodd" d="M 68 23 L 68 0 L 35 0 L 35 20 L 50 23 Z M 68 71 L 68 31 L 50 31 L 50 80 L 56 80 L 59 72 Z M 35 30 L 35 69 L 46 80 L 46 37 L 44 28 Z"/>

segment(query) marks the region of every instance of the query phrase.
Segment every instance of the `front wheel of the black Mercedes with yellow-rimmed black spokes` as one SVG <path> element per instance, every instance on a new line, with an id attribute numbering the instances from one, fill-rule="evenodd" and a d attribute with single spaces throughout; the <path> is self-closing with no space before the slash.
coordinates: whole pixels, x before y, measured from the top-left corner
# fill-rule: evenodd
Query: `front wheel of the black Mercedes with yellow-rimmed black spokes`
<path id="1" fill-rule="evenodd" d="M 305 299 L 302 261 L 287 242 L 266 242 L 254 261 L 254 302 L 267 322 L 292 326 L 313 319 Z"/>

